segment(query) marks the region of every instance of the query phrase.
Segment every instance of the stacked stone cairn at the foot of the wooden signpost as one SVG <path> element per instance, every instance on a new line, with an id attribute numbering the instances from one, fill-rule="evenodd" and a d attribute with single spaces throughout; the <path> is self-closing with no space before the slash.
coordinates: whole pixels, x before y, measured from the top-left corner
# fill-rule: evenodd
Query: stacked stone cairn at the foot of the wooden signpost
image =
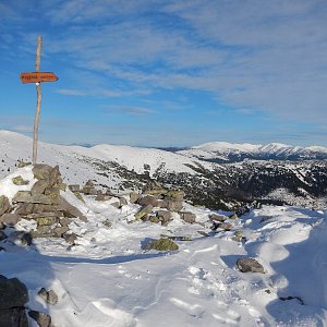
<path id="1" fill-rule="evenodd" d="M 15 231 L 12 235 L 27 245 L 31 245 L 33 238 L 48 237 L 63 238 L 73 244 L 76 235 L 70 231 L 69 225 L 72 219 L 87 221 L 87 218 L 60 195 L 61 190 L 66 190 L 66 184 L 62 182 L 59 167 L 35 165 L 33 173 L 37 182 L 31 191 L 19 191 L 12 199 L 12 206 L 4 195 L 0 196 L 1 227 L 14 226 L 22 218 L 34 220 L 37 223 L 36 230 L 29 233 Z M 13 183 L 26 185 L 28 181 L 19 175 L 13 179 Z M 3 230 L 0 231 L 0 239 L 1 235 L 5 238 Z"/>

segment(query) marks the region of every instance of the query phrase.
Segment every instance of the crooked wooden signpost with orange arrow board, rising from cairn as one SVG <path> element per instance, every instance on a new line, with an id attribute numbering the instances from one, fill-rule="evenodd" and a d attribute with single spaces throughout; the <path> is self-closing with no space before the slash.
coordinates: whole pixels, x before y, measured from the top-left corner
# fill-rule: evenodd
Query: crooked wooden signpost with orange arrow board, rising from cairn
<path id="1" fill-rule="evenodd" d="M 56 82 L 58 77 L 51 72 L 40 72 L 40 53 L 43 48 L 43 37 L 38 35 L 37 37 L 37 48 L 35 56 L 35 72 L 32 73 L 22 73 L 21 81 L 22 83 L 35 83 L 36 85 L 36 111 L 34 119 L 34 136 L 33 136 L 33 165 L 36 164 L 37 158 L 37 140 L 38 140 L 38 121 L 40 113 L 40 105 L 41 105 L 41 82 Z"/>

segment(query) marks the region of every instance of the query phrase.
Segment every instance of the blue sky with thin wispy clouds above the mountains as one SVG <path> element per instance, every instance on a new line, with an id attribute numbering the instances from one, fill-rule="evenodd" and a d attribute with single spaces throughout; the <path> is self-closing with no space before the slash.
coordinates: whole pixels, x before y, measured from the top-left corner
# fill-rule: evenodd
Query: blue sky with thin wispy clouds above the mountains
<path id="1" fill-rule="evenodd" d="M 325 0 L 0 0 L 0 129 L 39 138 L 327 146 Z"/>

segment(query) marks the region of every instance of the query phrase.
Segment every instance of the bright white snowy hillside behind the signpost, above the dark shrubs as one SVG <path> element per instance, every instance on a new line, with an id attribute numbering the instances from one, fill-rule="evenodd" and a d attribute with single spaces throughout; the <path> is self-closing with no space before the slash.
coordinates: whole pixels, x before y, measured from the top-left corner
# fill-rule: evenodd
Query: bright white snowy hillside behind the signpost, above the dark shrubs
<path id="1" fill-rule="evenodd" d="M 0 169 L 1 175 L 7 173 L 9 167 L 13 167 L 19 159 L 31 160 L 32 140 L 19 133 L 0 131 L 0 160 L 5 165 Z M 196 173 L 189 165 L 202 165 L 206 169 L 213 169 L 210 162 L 202 162 L 198 159 L 190 159 L 185 156 L 172 154 L 154 148 L 138 148 L 118 145 L 97 145 L 90 148 L 82 146 L 63 146 L 47 143 L 39 143 L 38 161 L 49 165 L 60 165 L 70 171 L 62 171 L 63 175 L 71 181 L 85 179 L 85 170 L 89 170 L 89 165 L 83 164 L 83 157 L 98 159 L 101 161 L 116 162 L 129 170 L 137 173 L 148 171 L 152 175 L 158 169 L 168 172 Z M 76 165 L 78 169 L 75 169 Z M 148 167 L 146 166 L 148 165 Z M 81 169 L 80 169 L 80 166 Z M 0 166 L 1 168 L 1 166 Z M 76 178 L 75 177 L 76 173 Z"/>

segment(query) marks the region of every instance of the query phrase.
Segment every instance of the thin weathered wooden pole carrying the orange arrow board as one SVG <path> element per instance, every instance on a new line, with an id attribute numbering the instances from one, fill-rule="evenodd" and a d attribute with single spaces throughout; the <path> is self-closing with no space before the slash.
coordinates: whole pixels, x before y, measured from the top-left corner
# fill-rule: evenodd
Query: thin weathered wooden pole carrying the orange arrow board
<path id="1" fill-rule="evenodd" d="M 36 48 L 36 57 L 35 57 L 35 71 L 40 71 L 40 55 L 43 48 L 43 37 L 40 35 L 37 36 L 37 48 Z M 38 141 L 38 121 L 39 121 L 39 113 L 40 113 L 40 105 L 41 105 L 41 87 L 40 83 L 35 83 L 36 85 L 36 111 L 35 111 L 35 119 L 34 119 L 34 137 L 33 137 L 33 157 L 32 162 L 33 165 L 36 164 L 37 160 L 37 141 Z"/>

